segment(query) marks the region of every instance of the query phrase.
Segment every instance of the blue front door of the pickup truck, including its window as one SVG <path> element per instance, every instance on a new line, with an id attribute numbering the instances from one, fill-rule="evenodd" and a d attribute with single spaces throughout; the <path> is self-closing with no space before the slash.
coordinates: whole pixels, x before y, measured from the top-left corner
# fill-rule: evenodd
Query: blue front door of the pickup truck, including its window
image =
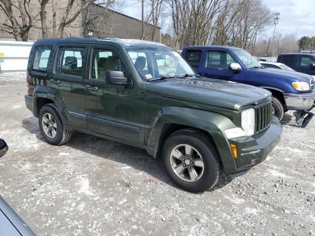
<path id="1" fill-rule="evenodd" d="M 208 78 L 245 82 L 242 71 L 229 70 L 230 63 L 235 63 L 233 57 L 223 50 L 209 50 L 206 52 L 204 63 L 201 65 L 200 75 Z"/>

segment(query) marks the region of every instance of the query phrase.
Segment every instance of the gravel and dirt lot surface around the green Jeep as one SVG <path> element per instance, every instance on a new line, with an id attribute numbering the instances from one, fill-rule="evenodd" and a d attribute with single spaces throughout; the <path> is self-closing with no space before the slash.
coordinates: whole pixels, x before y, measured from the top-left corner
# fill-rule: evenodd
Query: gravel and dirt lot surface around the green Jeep
<path id="1" fill-rule="evenodd" d="M 144 150 L 85 134 L 48 145 L 25 81 L 0 75 L 0 194 L 38 235 L 315 236 L 315 119 L 302 129 L 286 114 L 266 161 L 191 194 Z"/>

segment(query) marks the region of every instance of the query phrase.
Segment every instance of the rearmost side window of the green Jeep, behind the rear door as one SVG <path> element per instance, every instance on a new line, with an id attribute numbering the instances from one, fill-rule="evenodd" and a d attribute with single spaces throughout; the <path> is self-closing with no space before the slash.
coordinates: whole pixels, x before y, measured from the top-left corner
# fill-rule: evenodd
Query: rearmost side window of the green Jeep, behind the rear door
<path id="1" fill-rule="evenodd" d="M 32 70 L 47 72 L 47 64 L 51 49 L 51 46 L 36 47 Z"/>

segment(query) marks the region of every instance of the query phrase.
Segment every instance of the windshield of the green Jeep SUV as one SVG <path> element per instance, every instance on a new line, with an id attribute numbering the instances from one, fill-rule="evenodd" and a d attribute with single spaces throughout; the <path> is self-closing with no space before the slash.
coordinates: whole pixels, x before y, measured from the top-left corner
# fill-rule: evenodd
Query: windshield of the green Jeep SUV
<path id="1" fill-rule="evenodd" d="M 133 47 L 126 51 L 144 81 L 185 74 L 196 75 L 186 60 L 172 49 Z"/>

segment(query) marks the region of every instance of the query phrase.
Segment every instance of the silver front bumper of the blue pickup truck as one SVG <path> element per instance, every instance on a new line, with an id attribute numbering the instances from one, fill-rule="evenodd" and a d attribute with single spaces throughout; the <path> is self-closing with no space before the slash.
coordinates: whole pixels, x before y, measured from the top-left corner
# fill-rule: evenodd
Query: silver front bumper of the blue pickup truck
<path id="1" fill-rule="evenodd" d="M 284 93 L 284 100 L 287 110 L 308 110 L 313 107 L 315 90 L 308 93 Z"/>

